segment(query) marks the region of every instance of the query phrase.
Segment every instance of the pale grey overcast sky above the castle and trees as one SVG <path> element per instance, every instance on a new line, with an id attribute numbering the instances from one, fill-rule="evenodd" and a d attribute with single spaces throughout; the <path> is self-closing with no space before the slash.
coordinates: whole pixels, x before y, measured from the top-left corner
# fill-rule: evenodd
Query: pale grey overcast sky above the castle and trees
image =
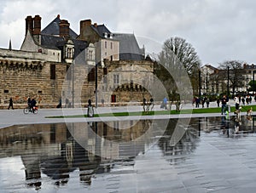
<path id="1" fill-rule="evenodd" d="M 91 19 L 110 31 L 134 33 L 146 52 L 158 53 L 170 37 L 183 37 L 202 65 L 256 60 L 256 1 L 253 0 L 0 0 L 0 48 L 20 49 L 25 18 L 39 14 L 42 30 L 57 14 L 79 34 Z"/>

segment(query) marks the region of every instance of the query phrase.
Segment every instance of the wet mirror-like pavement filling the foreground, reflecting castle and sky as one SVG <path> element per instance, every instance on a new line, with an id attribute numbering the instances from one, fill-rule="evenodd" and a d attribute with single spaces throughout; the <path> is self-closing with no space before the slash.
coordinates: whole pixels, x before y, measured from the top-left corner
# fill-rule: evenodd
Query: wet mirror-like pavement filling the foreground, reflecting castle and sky
<path id="1" fill-rule="evenodd" d="M 0 190 L 255 191 L 253 119 L 241 116 L 237 126 L 233 116 L 193 117 L 173 144 L 177 125 L 173 118 L 1 128 Z"/>

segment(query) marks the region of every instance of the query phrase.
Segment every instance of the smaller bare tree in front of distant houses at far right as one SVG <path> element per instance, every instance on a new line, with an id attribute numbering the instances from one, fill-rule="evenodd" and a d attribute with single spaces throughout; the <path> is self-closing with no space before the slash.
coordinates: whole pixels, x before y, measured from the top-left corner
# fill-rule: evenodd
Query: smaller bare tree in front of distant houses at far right
<path id="1" fill-rule="evenodd" d="M 236 92 L 236 88 L 240 88 L 242 86 L 243 82 L 243 71 L 242 71 L 242 65 L 245 64 L 244 61 L 240 60 L 227 60 L 224 61 L 223 63 L 219 64 L 218 68 L 223 70 L 220 74 L 221 78 L 223 80 L 228 81 L 228 67 L 230 69 L 230 88 L 232 88 L 232 94 L 234 95 Z"/>

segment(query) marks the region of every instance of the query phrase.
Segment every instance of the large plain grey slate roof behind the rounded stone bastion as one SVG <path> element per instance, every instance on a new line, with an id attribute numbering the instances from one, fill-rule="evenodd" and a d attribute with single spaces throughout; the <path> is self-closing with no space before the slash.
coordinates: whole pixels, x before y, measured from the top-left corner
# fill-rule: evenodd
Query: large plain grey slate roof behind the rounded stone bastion
<path id="1" fill-rule="evenodd" d="M 134 34 L 114 33 L 113 39 L 119 40 L 119 60 L 144 60 Z"/>

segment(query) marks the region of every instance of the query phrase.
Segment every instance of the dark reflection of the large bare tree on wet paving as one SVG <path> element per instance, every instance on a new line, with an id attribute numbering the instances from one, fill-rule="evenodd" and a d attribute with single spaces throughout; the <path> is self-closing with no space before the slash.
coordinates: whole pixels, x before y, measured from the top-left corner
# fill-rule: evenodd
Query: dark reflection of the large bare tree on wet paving
<path id="1" fill-rule="evenodd" d="M 192 129 L 186 129 L 183 138 L 176 145 L 172 145 L 172 134 L 177 126 L 177 121 L 177 119 L 170 120 L 166 132 L 159 140 L 161 150 L 163 150 L 168 162 L 172 164 L 182 162 L 186 158 L 185 155 L 195 150 L 198 141 L 197 133 L 194 133 Z"/>

